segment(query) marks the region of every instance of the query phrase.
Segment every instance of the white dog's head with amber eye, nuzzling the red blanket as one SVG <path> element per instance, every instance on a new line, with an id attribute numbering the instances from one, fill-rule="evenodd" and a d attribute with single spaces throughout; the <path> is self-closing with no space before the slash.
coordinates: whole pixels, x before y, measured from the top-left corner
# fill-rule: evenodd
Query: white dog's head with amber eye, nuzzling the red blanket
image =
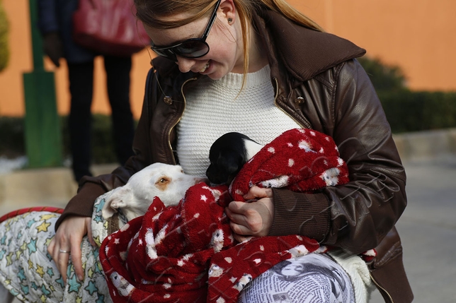
<path id="1" fill-rule="evenodd" d="M 205 181 L 203 177 L 184 174 L 179 165 L 154 163 L 133 174 L 124 186 L 113 189 L 103 206 L 103 218 L 112 217 L 118 208 L 127 220 L 137 218 L 146 213 L 154 197 L 159 197 L 165 206 L 177 205 L 190 186 Z"/>

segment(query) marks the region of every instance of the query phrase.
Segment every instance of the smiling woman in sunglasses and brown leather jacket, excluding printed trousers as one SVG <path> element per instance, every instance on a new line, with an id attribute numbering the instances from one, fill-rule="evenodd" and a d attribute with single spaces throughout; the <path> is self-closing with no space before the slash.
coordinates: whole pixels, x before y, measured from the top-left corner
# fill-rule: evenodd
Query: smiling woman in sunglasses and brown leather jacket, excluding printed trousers
<path id="1" fill-rule="evenodd" d="M 226 210 L 236 239 L 302 234 L 350 254 L 377 247 L 370 263 L 375 284 L 385 298 L 411 302 L 394 229 L 406 206 L 406 176 L 380 101 L 355 60 L 364 49 L 322 32 L 283 0 L 135 6 L 159 54 L 147 78 L 135 155 L 112 174 L 83 179 L 59 218 L 48 251 L 64 278 L 69 251 L 83 278 L 79 246 L 97 196 L 153 162 L 204 174 L 210 145 L 223 133 L 264 144 L 300 127 L 334 138 L 350 182 L 314 194 L 253 187 L 257 203 L 233 201 Z"/>

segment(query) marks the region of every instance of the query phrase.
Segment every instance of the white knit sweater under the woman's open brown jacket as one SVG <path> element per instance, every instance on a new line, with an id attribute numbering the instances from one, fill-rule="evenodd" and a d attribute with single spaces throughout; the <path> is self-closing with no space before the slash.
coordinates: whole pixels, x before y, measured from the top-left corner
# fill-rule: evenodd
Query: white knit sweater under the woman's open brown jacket
<path id="1" fill-rule="evenodd" d="M 186 93 L 177 153 L 187 174 L 205 175 L 210 146 L 224 133 L 237 131 L 266 144 L 280 133 L 300 127 L 274 105 L 269 66 L 246 77 L 243 90 L 243 75 L 229 73 L 217 81 L 202 79 Z"/>

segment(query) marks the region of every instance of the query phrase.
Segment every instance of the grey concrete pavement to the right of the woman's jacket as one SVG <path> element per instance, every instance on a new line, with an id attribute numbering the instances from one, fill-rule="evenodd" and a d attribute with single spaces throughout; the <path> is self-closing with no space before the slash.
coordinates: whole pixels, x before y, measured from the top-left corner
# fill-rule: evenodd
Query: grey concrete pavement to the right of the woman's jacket
<path id="1" fill-rule="evenodd" d="M 404 162 L 409 204 L 397 222 L 416 303 L 456 302 L 456 155 Z M 382 303 L 380 293 L 372 303 Z"/>

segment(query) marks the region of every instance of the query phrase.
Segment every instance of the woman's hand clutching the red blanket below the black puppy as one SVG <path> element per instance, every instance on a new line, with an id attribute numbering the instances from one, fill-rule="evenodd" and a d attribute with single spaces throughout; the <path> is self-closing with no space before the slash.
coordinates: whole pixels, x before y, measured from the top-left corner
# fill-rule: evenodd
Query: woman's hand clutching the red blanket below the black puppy
<path id="1" fill-rule="evenodd" d="M 251 203 L 232 201 L 225 208 L 225 213 L 230 220 L 229 225 L 234 232 L 234 239 L 244 242 L 252 237 L 267 236 L 274 219 L 272 189 L 253 186 L 244 198 L 259 199 Z"/>

